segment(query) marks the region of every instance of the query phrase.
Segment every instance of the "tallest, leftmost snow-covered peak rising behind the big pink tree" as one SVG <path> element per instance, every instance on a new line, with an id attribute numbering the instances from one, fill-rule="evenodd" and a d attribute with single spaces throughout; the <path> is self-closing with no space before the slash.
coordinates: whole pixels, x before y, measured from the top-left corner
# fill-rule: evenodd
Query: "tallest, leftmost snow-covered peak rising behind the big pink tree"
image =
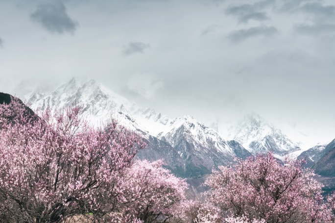
<path id="1" fill-rule="evenodd" d="M 83 115 L 93 124 L 108 118 L 116 118 L 132 130 L 155 135 L 156 126 L 167 123 L 168 117 L 156 114 L 153 109 L 144 109 L 136 103 L 117 95 L 95 80 L 72 78 L 55 91 L 47 94 L 36 92 L 28 100 L 33 110 L 51 110 L 70 105 L 83 107 Z"/>

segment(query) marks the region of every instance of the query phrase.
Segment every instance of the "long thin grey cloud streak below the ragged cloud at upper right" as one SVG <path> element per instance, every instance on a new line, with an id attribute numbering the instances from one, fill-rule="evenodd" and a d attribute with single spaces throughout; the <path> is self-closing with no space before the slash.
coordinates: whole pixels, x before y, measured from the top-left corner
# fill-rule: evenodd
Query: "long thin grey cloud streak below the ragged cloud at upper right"
<path id="1" fill-rule="evenodd" d="M 273 26 L 256 26 L 248 29 L 240 29 L 230 33 L 227 38 L 233 43 L 242 42 L 254 36 L 269 37 L 277 34 L 278 30 Z"/>

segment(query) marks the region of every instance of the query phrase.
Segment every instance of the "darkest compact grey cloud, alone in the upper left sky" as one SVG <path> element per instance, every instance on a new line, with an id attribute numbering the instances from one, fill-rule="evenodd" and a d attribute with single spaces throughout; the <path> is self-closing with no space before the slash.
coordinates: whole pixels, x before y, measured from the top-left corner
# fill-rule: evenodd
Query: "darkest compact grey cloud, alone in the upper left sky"
<path id="1" fill-rule="evenodd" d="M 51 33 L 74 33 L 78 26 L 78 23 L 67 14 L 66 7 L 61 1 L 40 4 L 30 18 Z"/>

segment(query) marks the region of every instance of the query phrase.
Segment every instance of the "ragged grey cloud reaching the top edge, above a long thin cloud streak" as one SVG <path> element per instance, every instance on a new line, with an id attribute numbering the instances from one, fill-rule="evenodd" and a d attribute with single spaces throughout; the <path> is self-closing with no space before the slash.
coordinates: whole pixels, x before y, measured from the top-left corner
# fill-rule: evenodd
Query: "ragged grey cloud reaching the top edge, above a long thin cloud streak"
<path id="1" fill-rule="evenodd" d="M 274 0 L 258 1 L 254 4 L 242 4 L 239 6 L 230 6 L 225 12 L 227 15 L 238 17 L 239 23 L 247 23 L 249 20 L 263 21 L 268 20 L 266 12 L 263 12 L 265 7 L 274 3 Z"/>

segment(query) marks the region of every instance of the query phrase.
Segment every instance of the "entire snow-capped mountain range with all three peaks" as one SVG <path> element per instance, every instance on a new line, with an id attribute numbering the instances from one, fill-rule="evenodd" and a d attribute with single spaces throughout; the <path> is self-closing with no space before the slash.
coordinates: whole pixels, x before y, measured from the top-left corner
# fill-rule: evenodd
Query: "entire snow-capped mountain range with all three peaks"
<path id="1" fill-rule="evenodd" d="M 183 177 L 202 176 L 233 162 L 235 157 L 244 159 L 258 152 L 272 151 L 280 159 L 302 152 L 298 143 L 257 114 L 247 115 L 229 127 L 233 140 L 226 140 L 189 115 L 171 119 L 130 102 L 94 80 L 72 78 L 53 92 L 35 92 L 28 102 L 34 111 L 77 104 L 97 125 L 117 118 L 146 140 L 148 147 L 138 154 L 139 158 L 163 159 L 168 169 Z"/>

